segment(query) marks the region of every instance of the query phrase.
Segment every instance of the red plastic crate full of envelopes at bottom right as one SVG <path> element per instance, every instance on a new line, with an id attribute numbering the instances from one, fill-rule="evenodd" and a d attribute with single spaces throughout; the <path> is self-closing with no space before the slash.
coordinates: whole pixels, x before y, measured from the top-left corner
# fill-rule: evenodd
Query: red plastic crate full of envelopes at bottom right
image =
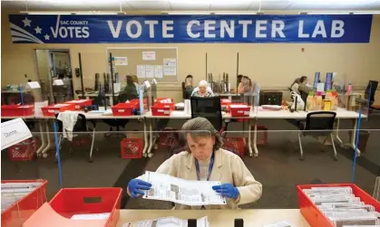
<path id="1" fill-rule="evenodd" d="M 311 227 L 333 227 L 333 223 L 328 220 L 328 218 L 319 211 L 317 206 L 304 194 L 303 189 L 310 189 L 311 187 L 346 187 L 350 186 L 352 188 L 353 194 L 359 197 L 360 200 L 369 205 L 375 207 L 376 212 L 380 212 L 380 203 L 377 202 L 371 195 L 366 194 L 361 188 L 356 186 L 356 184 L 304 184 L 297 185 L 299 210 L 310 224 Z"/>

